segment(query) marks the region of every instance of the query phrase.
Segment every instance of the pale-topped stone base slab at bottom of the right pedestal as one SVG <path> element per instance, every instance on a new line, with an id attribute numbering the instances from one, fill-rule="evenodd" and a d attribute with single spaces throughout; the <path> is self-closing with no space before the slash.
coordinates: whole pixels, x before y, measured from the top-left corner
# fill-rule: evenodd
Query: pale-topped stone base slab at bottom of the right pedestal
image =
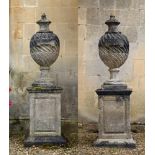
<path id="1" fill-rule="evenodd" d="M 135 148 L 136 142 L 133 139 L 97 139 L 94 146 Z"/>

